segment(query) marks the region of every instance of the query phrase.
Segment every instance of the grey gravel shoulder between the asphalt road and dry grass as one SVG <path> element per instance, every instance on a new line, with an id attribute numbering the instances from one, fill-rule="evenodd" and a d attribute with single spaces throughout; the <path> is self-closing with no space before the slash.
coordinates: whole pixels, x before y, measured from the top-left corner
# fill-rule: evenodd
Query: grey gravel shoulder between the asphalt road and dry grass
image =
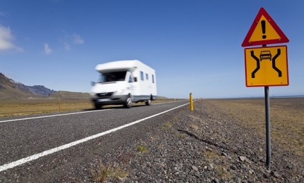
<path id="1" fill-rule="evenodd" d="M 245 114 L 244 114 L 245 115 Z M 197 101 L 164 116 L 163 123 L 110 153 L 93 158 L 57 182 L 304 182 L 303 157 L 271 141 L 265 168 L 265 137 Z"/>

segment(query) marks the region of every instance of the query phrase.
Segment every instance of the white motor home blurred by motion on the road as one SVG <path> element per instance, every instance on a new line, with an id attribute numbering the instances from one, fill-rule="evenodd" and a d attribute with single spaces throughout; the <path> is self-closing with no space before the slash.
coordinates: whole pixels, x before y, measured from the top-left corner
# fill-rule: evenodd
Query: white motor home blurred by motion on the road
<path id="1" fill-rule="evenodd" d="M 151 105 L 156 99 L 156 72 L 141 61 L 113 61 L 98 64 L 100 80 L 93 82 L 91 98 L 95 108 L 123 104 L 131 108 L 132 102 L 144 101 Z"/>

